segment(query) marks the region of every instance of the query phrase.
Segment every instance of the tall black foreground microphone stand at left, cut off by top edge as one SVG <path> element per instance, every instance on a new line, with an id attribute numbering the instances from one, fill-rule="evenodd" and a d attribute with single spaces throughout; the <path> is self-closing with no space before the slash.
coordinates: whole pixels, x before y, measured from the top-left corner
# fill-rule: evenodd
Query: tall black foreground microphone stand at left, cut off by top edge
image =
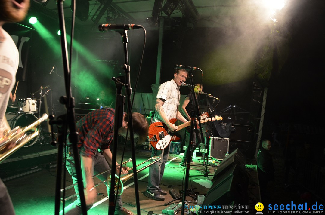
<path id="1" fill-rule="evenodd" d="M 68 48 L 67 48 L 65 22 L 64 22 L 63 0 L 58 0 L 57 5 L 58 5 L 58 14 L 59 14 L 59 25 L 61 30 L 60 42 L 61 42 L 64 81 L 65 81 L 65 90 L 66 90 L 66 96 L 60 97 L 60 103 L 65 104 L 65 107 L 67 108 L 67 114 L 63 116 L 59 116 L 58 120 L 54 120 L 54 116 L 52 115 L 50 117 L 50 122 L 49 122 L 50 125 L 53 124 L 59 125 L 58 126 L 59 145 L 58 145 L 58 161 L 57 161 L 57 179 L 56 179 L 56 189 L 55 189 L 55 215 L 58 215 L 60 210 L 60 196 L 61 196 L 60 189 L 61 189 L 61 175 L 62 175 L 63 146 L 64 143 L 66 143 L 68 126 L 70 130 L 69 142 L 71 143 L 73 155 L 74 155 L 81 210 L 82 210 L 82 214 L 86 215 L 87 209 L 86 209 L 86 201 L 85 201 L 84 186 L 83 186 L 84 183 L 83 183 L 83 177 L 81 173 L 81 166 L 80 166 L 80 159 L 79 159 L 80 156 L 77 148 L 78 133 L 76 132 L 75 115 L 74 115 L 74 108 L 73 108 L 74 98 L 72 97 L 72 93 L 71 93 L 71 73 L 70 73 L 70 66 L 68 60 Z M 51 130 L 53 136 L 53 129 Z M 52 141 L 52 144 L 54 145 L 56 144 L 56 142 Z M 64 202 L 63 202 L 63 210 L 64 210 Z"/>

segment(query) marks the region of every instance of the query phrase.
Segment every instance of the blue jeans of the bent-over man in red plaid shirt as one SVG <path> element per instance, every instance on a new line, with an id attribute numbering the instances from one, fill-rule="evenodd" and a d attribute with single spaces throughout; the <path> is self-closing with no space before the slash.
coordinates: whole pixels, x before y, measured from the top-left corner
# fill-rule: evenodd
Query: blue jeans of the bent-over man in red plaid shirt
<path id="1" fill-rule="evenodd" d="M 75 170 L 72 148 L 68 147 L 67 151 L 69 152 L 69 150 L 70 150 L 71 154 L 67 155 L 67 160 L 66 160 L 65 165 L 67 167 L 68 172 L 70 173 L 70 175 L 72 177 L 72 183 L 77 183 L 77 174 L 76 174 L 76 170 Z M 110 165 L 107 163 L 105 157 L 102 154 L 100 154 L 98 151 L 96 151 L 95 156 L 93 157 L 93 166 L 94 166 L 93 175 L 110 169 Z M 98 175 L 97 177 L 99 180 L 104 181 L 104 180 L 106 180 L 107 176 L 109 176 L 109 175 L 110 175 L 110 171 L 105 172 L 101 175 Z M 107 186 L 106 182 L 105 182 L 105 185 Z M 76 193 L 79 193 L 78 185 L 74 186 L 74 190 Z M 109 194 L 108 187 L 107 187 L 107 193 Z M 91 207 L 92 207 L 92 205 L 87 206 L 87 210 L 89 210 Z M 122 206 L 121 196 L 117 196 L 115 210 L 121 210 L 122 207 L 123 206 Z M 60 214 L 62 214 L 62 213 L 63 213 L 63 211 L 60 211 Z M 72 202 L 70 205 L 68 205 L 64 208 L 64 214 L 66 214 L 66 215 L 82 214 L 79 195 L 77 195 L 77 199 L 74 202 Z"/>

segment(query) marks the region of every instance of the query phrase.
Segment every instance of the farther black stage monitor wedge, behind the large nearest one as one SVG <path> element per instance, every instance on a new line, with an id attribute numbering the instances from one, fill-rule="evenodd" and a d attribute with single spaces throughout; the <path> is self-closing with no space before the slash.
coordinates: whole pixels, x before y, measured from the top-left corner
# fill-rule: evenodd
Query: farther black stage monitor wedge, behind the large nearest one
<path id="1" fill-rule="evenodd" d="M 213 178 L 216 179 L 218 177 L 218 174 L 223 174 L 223 172 L 227 171 L 232 166 L 236 165 L 238 168 L 240 168 L 242 171 L 245 171 L 245 164 L 246 164 L 246 158 L 244 155 L 240 152 L 240 150 L 237 148 L 233 152 L 231 152 L 228 157 L 223 159 L 221 161 L 220 166 L 218 166 L 217 170 L 214 173 Z"/>

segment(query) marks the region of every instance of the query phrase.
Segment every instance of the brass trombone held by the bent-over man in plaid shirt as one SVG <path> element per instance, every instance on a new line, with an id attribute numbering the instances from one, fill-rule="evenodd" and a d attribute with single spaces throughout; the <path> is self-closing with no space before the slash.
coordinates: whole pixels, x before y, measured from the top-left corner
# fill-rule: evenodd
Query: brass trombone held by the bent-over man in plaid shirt
<path id="1" fill-rule="evenodd" d="M 149 158 L 148 160 L 143 161 L 142 163 L 139 163 L 138 165 L 136 165 L 136 167 L 137 167 L 137 166 L 140 166 L 140 165 L 142 165 L 142 164 L 144 164 L 144 163 L 146 163 L 146 162 L 150 162 L 148 165 L 146 165 L 146 166 L 142 167 L 141 169 L 137 170 L 136 173 L 143 171 L 144 169 L 146 169 L 146 168 L 148 168 L 149 166 L 151 166 L 151 165 L 157 163 L 157 162 L 160 161 L 161 159 L 162 159 L 161 157 L 152 157 L 152 158 Z M 130 158 L 130 159 L 128 159 L 127 161 L 124 161 L 123 163 L 117 165 L 116 167 L 121 166 L 121 165 L 123 165 L 123 164 L 125 164 L 125 163 L 127 163 L 127 162 L 131 162 L 131 161 L 132 161 L 132 159 Z M 133 167 L 130 168 L 130 170 L 132 170 L 132 169 L 133 169 Z M 106 171 L 101 172 L 101 173 L 98 173 L 98 174 L 94 175 L 93 178 L 94 178 L 94 177 L 97 177 L 98 175 L 101 175 L 101 174 L 103 174 L 103 173 L 105 173 L 105 172 L 107 172 L 107 171 L 110 171 L 110 170 L 111 170 L 111 169 L 106 170 Z M 130 173 L 130 174 L 127 174 L 127 175 L 122 176 L 121 178 L 119 178 L 118 175 L 115 175 L 115 187 L 114 187 L 115 195 L 117 195 L 117 196 L 122 195 L 122 193 L 123 193 L 123 187 L 124 187 L 124 186 L 123 186 L 123 183 L 126 182 L 127 180 L 129 180 L 130 178 L 132 178 L 133 175 L 134 175 L 134 173 Z M 110 186 L 109 186 L 109 184 L 110 184 L 110 183 L 109 183 L 109 182 L 110 182 L 110 179 L 111 179 L 110 176 L 108 176 L 106 180 L 101 181 L 101 182 L 95 184 L 95 185 L 94 185 L 92 188 L 90 188 L 90 189 L 92 190 L 93 188 L 97 187 L 99 184 L 102 184 L 102 183 L 105 183 L 105 182 L 107 182 L 107 184 L 108 184 L 107 186 L 108 186 L 108 188 L 110 189 Z M 118 183 L 119 183 L 119 186 L 117 186 Z M 67 186 L 67 187 L 64 188 L 64 189 L 61 189 L 61 192 L 63 192 L 63 190 L 70 189 L 70 188 L 72 188 L 74 185 L 77 185 L 77 184 L 78 184 L 78 183 L 74 183 L 74 184 L 72 184 L 72 185 L 69 185 L 69 186 Z M 118 189 L 117 189 L 117 188 L 118 188 Z M 118 190 L 118 192 L 117 192 L 117 190 Z M 78 194 L 79 194 L 79 193 L 73 194 L 73 195 L 68 196 L 68 197 L 66 197 L 66 198 L 64 198 L 64 199 L 61 198 L 61 202 L 63 202 L 63 200 L 64 200 L 64 201 L 67 201 L 67 200 L 69 200 L 69 199 L 72 199 L 73 197 L 77 196 Z"/>

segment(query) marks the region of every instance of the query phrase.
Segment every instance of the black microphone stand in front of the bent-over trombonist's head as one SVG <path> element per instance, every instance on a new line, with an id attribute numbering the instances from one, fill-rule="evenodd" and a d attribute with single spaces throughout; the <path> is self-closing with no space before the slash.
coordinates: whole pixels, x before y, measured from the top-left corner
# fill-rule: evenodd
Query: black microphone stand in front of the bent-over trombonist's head
<path id="1" fill-rule="evenodd" d="M 116 32 L 120 33 L 122 36 L 122 43 L 123 43 L 123 48 L 124 48 L 124 64 L 122 66 L 124 70 L 124 81 L 125 81 L 125 92 L 127 95 L 127 107 L 128 107 L 128 113 L 129 113 L 129 122 L 128 122 L 128 129 L 130 132 L 130 139 L 131 139 L 131 154 L 132 154 L 132 164 L 133 164 L 133 174 L 134 174 L 134 188 L 135 188 L 135 196 L 136 196 L 136 211 L 138 215 L 141 214 L 140 212 L 140 200 L 139 200 L 139 191 L 138 191 L 138 179 L 137 179 L 137 173 L 136 173 L 136 154 L 135 154 L 135 143 L 134 143 L 134 132 L 133 132 L 133 121 L 132 121 L 132 110 L 131 110 L 131 94 L 132 94 L 132 89 L 131 89 L 131 83 L 130 83 L 130 66 L 128 64 L 128 54 L 127 54 L 127 43 L 128 43 L 128 38 L 127 38 L 127 30 L 115 30 Z M 113 80 L 115 78 L 112 78 Z M 115 80 L 114 80 L 115 81 Z M 116 82 L 116 81 L 115 81 Z M 116 103 L 115 103 L 115 108 L 118 108 L 118 111 L 123 111 L 121 109 L 123 107 L 122 102 L 123 102 L 123 97 L 121 97 L 121 90 L 119 89 L 120 86 L 117 86 L 117 92 L 116 92 Z M 124 96 L 125 98 L 125 96 Z M 116 111 L 116 110 L 115 110 Z M 121 113 L 119 113 L 121 114 Z M 122 113 L 123 114 L 123 113 Z M 116 114 L 118 115 L 118 114 Z M 123 120 L 122 117 L 116 116 L 115 119 L 117 120 Z M 121 119 L 119 119 L 119 117 Z M 118 123 L 121 123 L 122 126 L 122 121 L 118 121 Z M 118 139 L 118 128 L 117 126 L 114 126 L 114 138 L 113 138 L 113 149 L 112 149 L 112 170 L 111 170 L 111 178 L 115 178 L 115 168 L 116 168 L 116 153 L 117 153 L 117 139 Z M 115 131 L 115 129 L 117 129 Z M 110 180 L 110 187 L 115 187 L 115 180 Z M 114 214 L 115 210 L 115 191 L 114 189 L 110 189 L 110 195 L 109 195 L 109 209 L 108 212 L 109 214 Z"/>

